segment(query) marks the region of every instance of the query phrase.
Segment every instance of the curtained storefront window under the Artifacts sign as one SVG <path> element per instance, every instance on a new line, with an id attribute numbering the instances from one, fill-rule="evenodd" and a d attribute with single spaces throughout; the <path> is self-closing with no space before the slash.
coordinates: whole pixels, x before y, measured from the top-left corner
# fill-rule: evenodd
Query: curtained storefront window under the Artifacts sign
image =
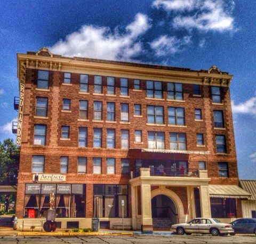
<path id="1" fill-rule="evenodd" d="M 85 217 L 85 184 L 26 184 L 24 217 L 46 217 L 51 192 L 58 218 Z"/>

